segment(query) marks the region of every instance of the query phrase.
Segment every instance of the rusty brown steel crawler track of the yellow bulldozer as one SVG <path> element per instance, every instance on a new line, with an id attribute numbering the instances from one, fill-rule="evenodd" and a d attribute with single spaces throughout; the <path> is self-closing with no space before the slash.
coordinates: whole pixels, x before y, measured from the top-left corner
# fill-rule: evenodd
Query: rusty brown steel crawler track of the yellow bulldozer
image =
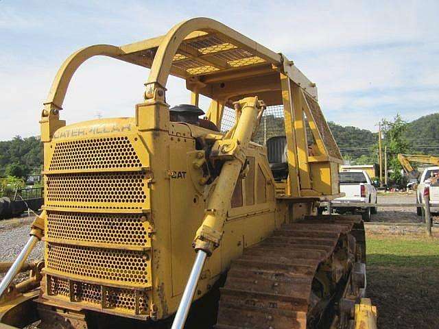
<path id="1" fill-rule="evenodd" d="M 307 217 L 246 249 L 230 265 L 215 328 L 309 328 L 313 278 L 348 234 L 356 241 L 355 259 L 364 260 L 364 226 L 357 216 Z"/>

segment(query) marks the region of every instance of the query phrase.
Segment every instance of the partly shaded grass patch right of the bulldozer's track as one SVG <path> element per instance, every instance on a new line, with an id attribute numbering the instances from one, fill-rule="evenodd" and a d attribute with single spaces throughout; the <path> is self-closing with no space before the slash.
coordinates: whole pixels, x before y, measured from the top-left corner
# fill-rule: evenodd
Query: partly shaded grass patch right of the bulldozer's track
<path id="1" fill-rule="evenodd" d="M 379 328 L 438 328 L 439 240 L 368 235 L 367 249 Z"/>

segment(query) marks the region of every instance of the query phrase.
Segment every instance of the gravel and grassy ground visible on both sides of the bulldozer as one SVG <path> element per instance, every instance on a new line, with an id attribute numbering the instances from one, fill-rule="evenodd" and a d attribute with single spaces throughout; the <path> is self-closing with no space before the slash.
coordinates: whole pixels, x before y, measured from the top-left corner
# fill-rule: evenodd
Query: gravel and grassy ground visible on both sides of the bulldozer
<path id="1" fill-rule="evenodd" d="M 379 195 L 379 203 L 414 203 L 413 193 Z M 0 221 L 0 261 L 12 261 L 28 239 L 33 217 Z M 439 328 L 439 225 L 433 228 L 434 238 L 425 236 L 416 208 L 384 208 L 372 215 L 366 224 L 368 243 L 368 297 L 378 308 L 379 328 Z M 439 216 L 434 216 L 439 223 Z M 407 250 L 394 249 L 385 241 L 397 239 Z M 423 247 L 433 253 L 413 253 L 410 243 L 427 241 Z M 393 247 L 392 247 L 393 246 Z M 381 247 L 381 249 L 380 249 Z M 392 249 L 393 248 L 393 249 Z M 30 259 L 43 257 L 43 243 L 38 243 Z M 0 274 L 0 280 L 2 275 Z M 23 278 L 23 277 L 21 277 Z M 21 279 L 22 280 L 22 279 Z"/>

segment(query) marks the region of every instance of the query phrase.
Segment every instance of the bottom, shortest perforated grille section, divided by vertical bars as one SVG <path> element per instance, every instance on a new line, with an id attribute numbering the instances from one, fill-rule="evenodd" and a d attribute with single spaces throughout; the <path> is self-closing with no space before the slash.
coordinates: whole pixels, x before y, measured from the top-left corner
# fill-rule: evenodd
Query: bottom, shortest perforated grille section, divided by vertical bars
<path id="1" fill-rule="evenodd" d="M 71 302 L 90 304 L 92 308 L 118 309 L 126 313 L 147 314 L 148 297 L 145 291 L 134 291 L 99 284 L 71 281 L 48 276 L 48 295 L 64 297 Z M 102 297 L 104 295 L 104 298 Z"/>

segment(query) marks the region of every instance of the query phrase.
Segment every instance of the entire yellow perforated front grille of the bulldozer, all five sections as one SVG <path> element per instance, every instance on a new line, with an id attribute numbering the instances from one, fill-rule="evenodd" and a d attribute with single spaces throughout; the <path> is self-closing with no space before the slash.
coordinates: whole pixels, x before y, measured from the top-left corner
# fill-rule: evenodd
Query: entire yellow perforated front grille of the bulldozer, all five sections
<path id="1" fill-rule="evenodd" d="M 105 129 L 124 135 L 126 122 Z M 66 130 L 69 140 L 55 138 L 45 163 L 46 296 L 145 319 L 152 287 L 146 150 L 133 134 L 75 140 L 69 134 L 88 127 Z"/>

